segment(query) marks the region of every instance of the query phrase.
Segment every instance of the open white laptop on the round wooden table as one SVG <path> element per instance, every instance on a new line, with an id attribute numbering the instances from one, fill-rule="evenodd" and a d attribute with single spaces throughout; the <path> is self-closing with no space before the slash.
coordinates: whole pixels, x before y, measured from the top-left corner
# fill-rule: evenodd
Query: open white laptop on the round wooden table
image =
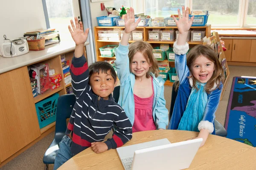
<path id="1" fill-rule="evenodd" d="M 182 170 L 188 168 L 203 139 L 171 144 L 167 138 L 116 149 L 125 170 Z"/>

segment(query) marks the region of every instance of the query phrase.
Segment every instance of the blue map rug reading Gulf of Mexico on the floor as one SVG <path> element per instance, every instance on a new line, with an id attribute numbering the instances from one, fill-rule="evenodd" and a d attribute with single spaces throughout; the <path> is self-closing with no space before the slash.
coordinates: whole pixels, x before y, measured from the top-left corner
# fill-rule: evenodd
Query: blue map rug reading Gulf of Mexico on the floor
<path id="1" fill-rule="evenodd" d="M 227 138 L 256 147 L 256 77 L 234 77 L 225 119 Z"/>

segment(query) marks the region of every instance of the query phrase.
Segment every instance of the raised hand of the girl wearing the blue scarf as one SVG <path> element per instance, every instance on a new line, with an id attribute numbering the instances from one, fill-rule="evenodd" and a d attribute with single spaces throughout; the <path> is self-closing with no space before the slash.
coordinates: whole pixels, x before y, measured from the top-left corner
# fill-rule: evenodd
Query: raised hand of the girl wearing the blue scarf
<path id="1" fill-rule="evenodd" d="M 179 14 L 179 20 L 177 20 L 173 15 L 172 18 L 175 20 L 175 23 L 178 27 L 179 34 L 183 34 L 184 32 L 188 32 L 192 22 L 194 20 L 194 16 L 192 16 L 189 20 L 189 7 L 186 8 L 182 6 L 182 17 L 180 14 L 180 9 L 178 9 L 178 14 Z"/>

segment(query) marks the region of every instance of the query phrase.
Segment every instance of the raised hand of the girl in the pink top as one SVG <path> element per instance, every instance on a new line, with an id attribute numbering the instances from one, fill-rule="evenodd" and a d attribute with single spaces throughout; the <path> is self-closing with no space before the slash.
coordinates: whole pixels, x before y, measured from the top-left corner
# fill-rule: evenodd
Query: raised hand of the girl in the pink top
<path id="1" fill-rule="evenodd" d="M 130 33 L 136 29 L 138 24 L 140 23 L 140 18 L 135 23 L 135 17 L 134 17 L 134 9 L 131 7 L 127 10 L 127 13 L 125 15 L 125 33 Z"/>

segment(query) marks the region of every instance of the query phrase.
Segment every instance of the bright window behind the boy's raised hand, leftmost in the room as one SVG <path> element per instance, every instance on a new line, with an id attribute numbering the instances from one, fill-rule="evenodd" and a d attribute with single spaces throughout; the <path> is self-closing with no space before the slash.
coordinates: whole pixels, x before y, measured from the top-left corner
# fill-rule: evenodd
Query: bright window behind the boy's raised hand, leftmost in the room
<path id="1" fill-rule="evenodd" d="M 60 34 L 61 41 L 72 40 L 67 26 L 75 16 L 80 19 L 78 0 L 43 0 L 44 2 L 49 19 L 47 27 L 55 28 Z"/>

